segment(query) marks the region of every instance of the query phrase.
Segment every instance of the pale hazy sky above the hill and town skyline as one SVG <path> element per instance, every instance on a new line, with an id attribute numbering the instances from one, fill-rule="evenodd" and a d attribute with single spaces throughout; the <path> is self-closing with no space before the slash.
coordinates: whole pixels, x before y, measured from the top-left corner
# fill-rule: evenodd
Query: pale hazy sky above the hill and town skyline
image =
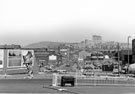
<path id="1" fill-rule="evenodd" d="M 135 37 L 134 0 L 0 0 L 0 45 Z"/>

